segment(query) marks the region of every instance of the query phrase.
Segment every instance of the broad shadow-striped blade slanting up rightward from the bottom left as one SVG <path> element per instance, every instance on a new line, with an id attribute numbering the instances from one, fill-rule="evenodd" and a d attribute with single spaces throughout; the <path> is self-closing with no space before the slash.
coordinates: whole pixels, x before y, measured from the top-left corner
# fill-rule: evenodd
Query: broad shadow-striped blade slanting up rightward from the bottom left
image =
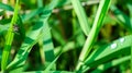
<path id="1" fill-rule="evenodd" d="M 41 35 L 43 29 L 42 22 L 37 22 L 31 32 L 25 36 L 24 42 L 22 44 L 19 52 L 16 53 L 14 60 L 8 65 L 8 69 L 16 68 L 23 65 L 28 54 L 30 53 L 32 47 L 38 41 L 44 34 Z"/>

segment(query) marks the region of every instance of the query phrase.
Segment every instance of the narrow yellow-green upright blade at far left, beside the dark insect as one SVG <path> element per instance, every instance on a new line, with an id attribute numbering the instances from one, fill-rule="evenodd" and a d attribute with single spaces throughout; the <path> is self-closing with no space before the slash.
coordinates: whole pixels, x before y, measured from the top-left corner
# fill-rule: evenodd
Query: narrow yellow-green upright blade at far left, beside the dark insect
<path id="1" fill-rule="evenodd" d="M 15 9 L 14 9 L 14 14 L 13 17 L 11 20 L 11 24 L 8 31 L 8 34 L 6 36 L 6 45 L 4 45 L 4 49 L 3 49 L 3 53 L 2 53 L 2 61 L 1 61 L 1 70 L 4 71 L 8 64 L 8 59 L 9 59 L 9 53 L 11 50 L 11 44 L 13 41 L 13 25 L 16 23 L 16 19 L 18 19 L 18 11 L 19 11 L 19 0 L 16 0 L 16 4 L 15 4 Z"/>

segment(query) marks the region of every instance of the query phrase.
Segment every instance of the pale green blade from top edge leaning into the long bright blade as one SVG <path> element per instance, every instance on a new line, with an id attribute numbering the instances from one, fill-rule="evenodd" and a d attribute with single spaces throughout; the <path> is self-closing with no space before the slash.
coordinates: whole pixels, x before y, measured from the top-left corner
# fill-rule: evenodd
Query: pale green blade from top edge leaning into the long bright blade
<path id="1" fill-rule="evenodd" d="M 75 10 L 77 17 L 79 20 L 80 27 L 81 27 L 82 32 L 85 33 L 85 35 L 88 36 L 89 31 L 90 31 L 90 26 L 88 24 L 88 19 L 87 19 L 87 15 L 85 13 L 85 10 L 84 10 L 80 1 L 79 0 L 72 0 L 72 4 L 73 4 L 74 10 Z"/>

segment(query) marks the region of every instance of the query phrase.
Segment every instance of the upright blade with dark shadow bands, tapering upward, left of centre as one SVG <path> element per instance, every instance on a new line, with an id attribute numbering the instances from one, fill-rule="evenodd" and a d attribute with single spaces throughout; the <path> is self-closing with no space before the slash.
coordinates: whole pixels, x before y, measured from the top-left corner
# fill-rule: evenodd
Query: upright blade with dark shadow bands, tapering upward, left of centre
<path id="1" fill-rule="evenodd" d="M 46 32 L 46 35 L 43 36 L 43 38 L 41 39 L 42 44 L 42 49 L 43 49 L 43 54 L 45 56 L 45 68 L 47 68 L 50 65 L 50 63 L 55 59 L 54 56 L 54 46 L 53 46 L 53 41 L 52 41 L 52 36 L 51 36 L 51 28 L 48 27 L 48 24 L 45 23 L 44 26 L 44 33 Z M 52 66 L 53 69 L 55 69 L 55 66 Z"/>

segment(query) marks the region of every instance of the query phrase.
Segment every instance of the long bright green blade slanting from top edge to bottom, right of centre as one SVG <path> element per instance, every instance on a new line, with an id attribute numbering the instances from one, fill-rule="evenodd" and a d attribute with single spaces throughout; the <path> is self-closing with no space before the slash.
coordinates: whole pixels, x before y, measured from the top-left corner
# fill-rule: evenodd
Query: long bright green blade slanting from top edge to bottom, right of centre
<path id="1" fill-rule="evenodd" d="M 78 64 L 76 66 L 76 70 L 80 69 L 81 62 L 87 58 L 89 54 L 91 47 L 95 42 L 95 39 L 99 33 L 100 27 L 102 26 L 102 21 L 105 19 L 105 15 L 109 9 L 110 0 L 101 0 L 96 19 L 94 21 L 94 26 L 89 33 L 89 36 L 86 39 L 85 46 L 82 47 L 82 50 L 79 56 Z"/>

